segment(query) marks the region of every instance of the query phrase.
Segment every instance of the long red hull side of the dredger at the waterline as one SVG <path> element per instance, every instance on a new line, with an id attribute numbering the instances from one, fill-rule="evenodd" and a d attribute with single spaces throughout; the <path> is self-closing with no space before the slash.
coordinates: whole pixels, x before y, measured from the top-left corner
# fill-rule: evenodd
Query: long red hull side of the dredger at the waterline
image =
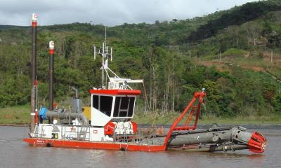
<path id="1" fill-rule="evenodd" d="M 145 146 L 138 144 L 115 144 L 112 142 L 91 142 L 91 141 L 72 141 L 58 139 L 22 139 L 31 146 L 53 146 L 61 148 L 89 148 L 89 149 L 107 149 L 117 151 L 146 151 L 157 152 L 166 151 L 165 146 Z"/>

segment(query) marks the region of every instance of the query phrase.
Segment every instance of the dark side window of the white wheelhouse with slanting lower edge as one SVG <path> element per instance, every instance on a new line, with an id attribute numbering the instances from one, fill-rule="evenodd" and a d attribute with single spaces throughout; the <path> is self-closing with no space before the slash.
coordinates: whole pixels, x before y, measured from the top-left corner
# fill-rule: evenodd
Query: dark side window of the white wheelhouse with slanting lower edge
<path id="1" fill-rule="evenodd" d="M 93 95 L 93 108 L 110 117 L 113 97 Z"/>

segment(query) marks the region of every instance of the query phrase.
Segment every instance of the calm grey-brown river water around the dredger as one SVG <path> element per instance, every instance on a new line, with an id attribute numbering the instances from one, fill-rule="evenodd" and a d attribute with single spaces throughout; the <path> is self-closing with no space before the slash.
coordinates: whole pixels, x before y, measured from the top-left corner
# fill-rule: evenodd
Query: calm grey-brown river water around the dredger
<path id="1" fill-rule="evenodd" d="M 27 127 L 0 127 L 0 167 L 281 167 L 281 130 L 258 130 L 266 152 L 157 153 L 33 147 L 22 142 Z"/>

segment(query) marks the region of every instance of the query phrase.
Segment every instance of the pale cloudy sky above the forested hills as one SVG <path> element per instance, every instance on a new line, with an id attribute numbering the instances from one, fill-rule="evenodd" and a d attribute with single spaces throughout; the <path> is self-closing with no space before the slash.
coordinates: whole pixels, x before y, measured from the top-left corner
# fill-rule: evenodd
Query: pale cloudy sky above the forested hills
<path id="1" fill-rule="evenodd" d="M 89 22 L 115 26 L 185 20 L 256 0 L 0 0 L 0 25 L 38 25 Z"/>

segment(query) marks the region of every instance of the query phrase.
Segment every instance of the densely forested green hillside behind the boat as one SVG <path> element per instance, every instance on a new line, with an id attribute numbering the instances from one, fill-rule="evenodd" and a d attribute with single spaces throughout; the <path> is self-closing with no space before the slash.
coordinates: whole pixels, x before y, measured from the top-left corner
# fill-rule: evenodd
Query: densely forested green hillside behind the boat
<path id="1" fill-rule="evenodd" d="M 148 104 L 161 113 L 181 111 L 192 93 L 207 89 L 210 116 L 281 114 L 281 4 L 247 3 L 188 20 L 107 28 L 114 48 L 110 67 L 120 76 L 145 79 Z M 73 23 L 39 27 L 39 100 L 48 100 L 48 41 L 55 41 L 55 99 L 89 97 L 100 87 L 100 58 L 93 44 L 103 25 Z M 0 106 L 30 101 L 30 27 L 0 26 Z M 270 57 L 274 55 L 271 62 Z M 143 90 L 142 85 L 136 88 Z M 144 111 L 144 99 L 138 111 Z"/>

